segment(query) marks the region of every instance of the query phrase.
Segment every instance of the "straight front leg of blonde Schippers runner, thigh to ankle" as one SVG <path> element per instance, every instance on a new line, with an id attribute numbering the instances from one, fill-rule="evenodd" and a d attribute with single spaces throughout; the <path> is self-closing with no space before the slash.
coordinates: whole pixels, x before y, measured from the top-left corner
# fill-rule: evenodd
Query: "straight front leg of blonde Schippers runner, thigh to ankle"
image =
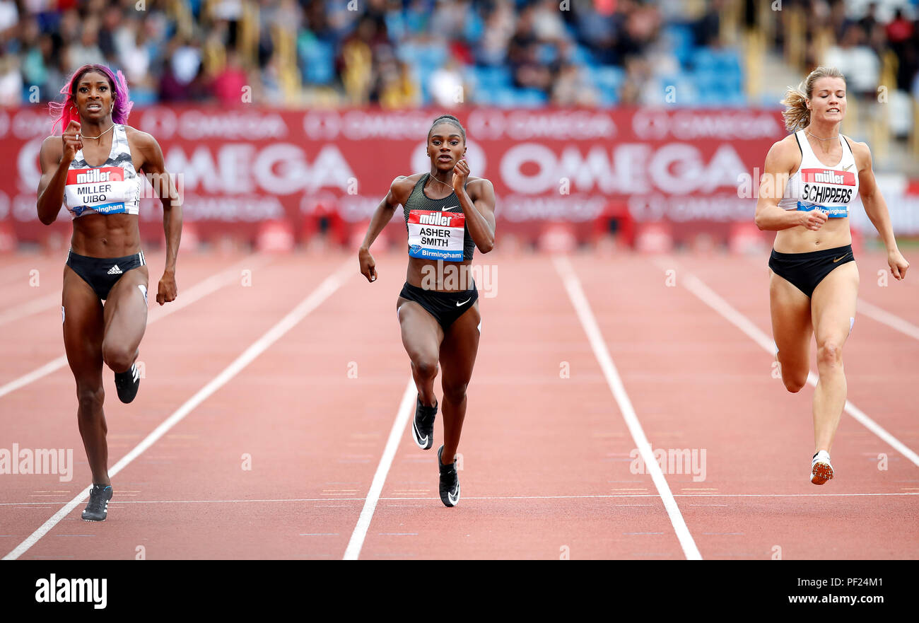
<path id="1" fill-rule="evenodd" d="M 848 262 L 835 268 L 813 290 L 813 332 L 817 338 L 817 370 L 820 380 L 813 393 L 815 449 L 830 451 L 845 406 L 843 346 L 856 316 L 858 268 Z"/>

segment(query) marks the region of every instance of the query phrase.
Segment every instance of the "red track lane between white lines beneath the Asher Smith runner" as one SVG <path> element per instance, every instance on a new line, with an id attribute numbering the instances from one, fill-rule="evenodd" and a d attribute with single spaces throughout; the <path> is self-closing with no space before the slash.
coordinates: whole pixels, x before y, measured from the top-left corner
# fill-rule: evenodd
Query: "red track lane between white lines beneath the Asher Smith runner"
<path id="1" fill-rule="evenodd" d="M 682 559 L 659 497 L 552 497 L 655 492 L 650 476 L 622 475 L 632 441 L 551 259 L 476 262 L 497 266 L 496 296 L 480 298 L 459 505 L 437 493 L 438 414 L 431 450 L 403 432 L 360 557 Z"/>

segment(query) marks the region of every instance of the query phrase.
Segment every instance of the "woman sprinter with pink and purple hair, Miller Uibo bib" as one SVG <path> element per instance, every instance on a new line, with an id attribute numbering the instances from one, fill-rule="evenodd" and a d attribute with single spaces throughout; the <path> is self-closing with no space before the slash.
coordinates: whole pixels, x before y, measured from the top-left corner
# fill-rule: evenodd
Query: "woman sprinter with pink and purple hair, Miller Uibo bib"
<path id="1" fill-rule="evenodd" d="M 147 324 L 149 274 L 138 227 L 138 172 L 152 180 L 163 202 L 166 261 L 156 294 L 160 305 L 176 299 L 182 208 L 159 144 L 125 125 L 133 103 L 121 72 L 116 77 L 104 65 L 84 65 L 61 93 L 64 101 L 51 104 L 51 130 L 60 123 L 63 134 L 41 143 L 38 212 L 39 220 L 50 225 L 63 201 L 74 222 L 63 268 L 63 342 L 76 380 L 76 419 L 93 473 L 83 518 L 104 521 L 112 489 L 102 364 L 115 372 L 121 402 L 131 402 L 140 386 L 134 362 Z"/>

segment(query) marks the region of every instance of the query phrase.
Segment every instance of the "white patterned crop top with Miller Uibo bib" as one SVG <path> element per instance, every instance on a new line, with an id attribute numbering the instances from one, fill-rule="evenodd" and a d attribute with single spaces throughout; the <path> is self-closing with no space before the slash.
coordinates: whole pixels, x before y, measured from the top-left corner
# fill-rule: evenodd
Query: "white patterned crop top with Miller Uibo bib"
<path id="1" fill-rule="evenodd" d="M 108 160 L 101 166 L 86 164 L 83 150 L 67 171 L 64 205 L 76 219 L 85 214 L 137 214 L 141 205 L 141 177 L 134 170 L 128 135 L 115 124 Z"/>

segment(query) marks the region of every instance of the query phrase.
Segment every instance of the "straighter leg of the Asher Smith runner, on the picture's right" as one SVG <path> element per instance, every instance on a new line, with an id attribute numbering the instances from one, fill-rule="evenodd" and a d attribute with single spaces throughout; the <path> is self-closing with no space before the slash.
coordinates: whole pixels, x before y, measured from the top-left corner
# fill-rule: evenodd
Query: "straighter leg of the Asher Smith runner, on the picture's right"
<path id="1" fill-rule="evenodd" d="M 444 452 L 441 460 L 448 465 L 459 448 L 463 419 L 466 417 L 466 386 L 472 377 L 475 356 L 479 352 L 479 301 L 450 325 L 440 345 L 440 366 L 444 390 L 441 413 L 444 414 Z"/>

